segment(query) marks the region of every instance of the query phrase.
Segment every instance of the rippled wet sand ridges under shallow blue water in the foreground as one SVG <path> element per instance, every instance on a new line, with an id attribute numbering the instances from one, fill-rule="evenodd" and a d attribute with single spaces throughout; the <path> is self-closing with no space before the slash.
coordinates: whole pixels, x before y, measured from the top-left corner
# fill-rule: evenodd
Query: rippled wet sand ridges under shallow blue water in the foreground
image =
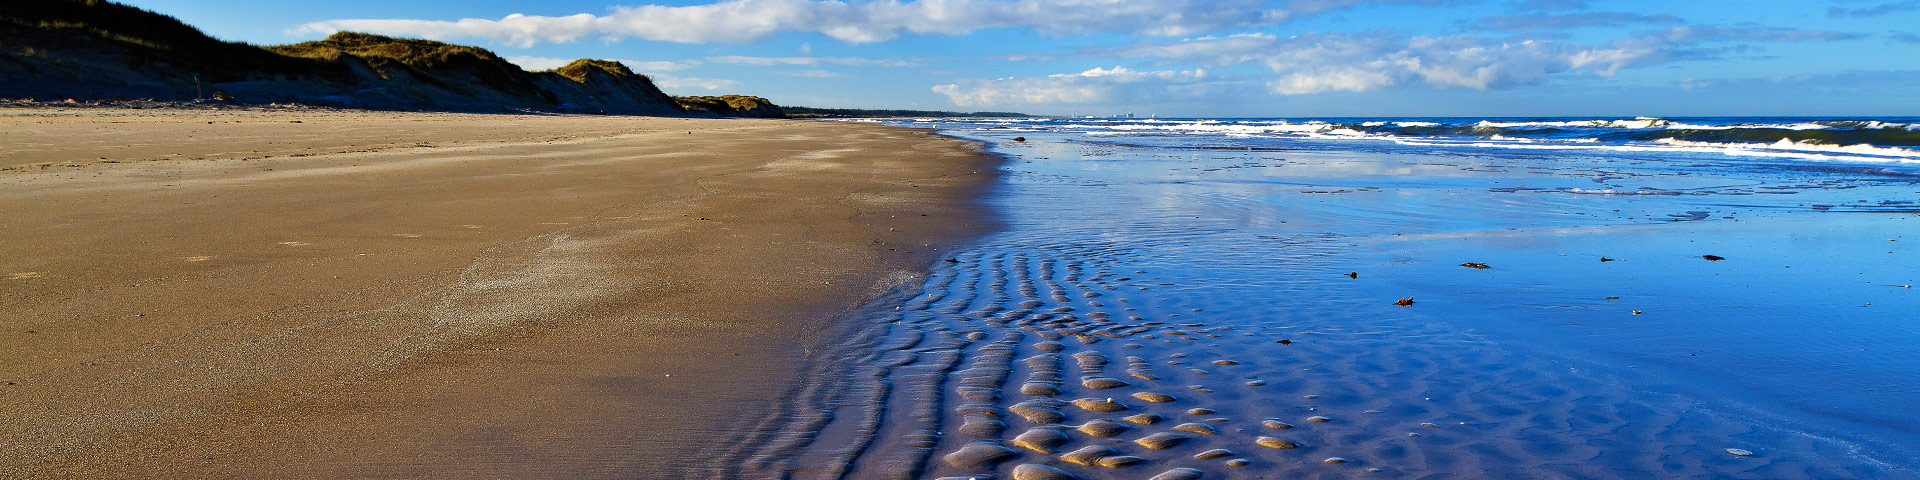
<path id="1" fill-rule="evenodd" d="M 1311 257 L 1311 255 L 1306 255 Z M 1847 445 L 1123 248 L 979 248 L 883 300 L 739 478 L 1843 478 Z M 1183 294 L 1162 294 L 1181 290 Z M 1281 340 L 1286 340 L 1284 344 Z M 1123 361 L 1114 361 L 1123 359 Z M 1071 369 L 1071 371 L 1069 371 Z M 1079 382 L 1066 382 L 1075 372 Z M 1125 380 L 1121 380 L 1125 378 Z M 1774 445 L 1774 447 L 1768 447 Z M 1730 455 L 1738 447 L 1755 455 Z M 1046 467 L 1046 468 L 1039 468 Z M 1069 474 L 1069 476 L 1060 476 Z"/>

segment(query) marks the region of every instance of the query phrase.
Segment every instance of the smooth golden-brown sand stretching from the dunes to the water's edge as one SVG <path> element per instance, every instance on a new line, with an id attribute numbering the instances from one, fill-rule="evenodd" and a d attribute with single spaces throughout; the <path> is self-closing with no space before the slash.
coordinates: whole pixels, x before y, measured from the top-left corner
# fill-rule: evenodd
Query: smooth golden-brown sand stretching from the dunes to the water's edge
<path id="1" fill-rule="evenodd" d="M 847 123 L 0 109 L 0 478 L 689 476 L 983 227 Z"/>

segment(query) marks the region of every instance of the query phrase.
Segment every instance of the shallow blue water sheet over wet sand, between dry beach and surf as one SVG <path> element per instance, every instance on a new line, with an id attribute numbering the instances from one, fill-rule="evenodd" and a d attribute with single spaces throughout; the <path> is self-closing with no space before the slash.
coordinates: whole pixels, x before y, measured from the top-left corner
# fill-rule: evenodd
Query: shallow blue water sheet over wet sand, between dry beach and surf
<path id="1" fill-rule="evenodd" d="M 1920 468 L 1899 157 L 900 123 L 1010 156 L 1006 228 L 822 340 L 743 478 Z"/>

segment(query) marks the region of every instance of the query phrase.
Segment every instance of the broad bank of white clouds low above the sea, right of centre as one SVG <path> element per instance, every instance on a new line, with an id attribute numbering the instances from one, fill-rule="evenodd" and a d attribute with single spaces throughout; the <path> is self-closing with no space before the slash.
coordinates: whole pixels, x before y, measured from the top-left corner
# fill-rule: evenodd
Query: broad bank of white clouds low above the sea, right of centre
<path id="1" fill-rule="evenodd" d="M 1574 17 L 1584 23 L 1586 17 Z M 1594 17 L 1597 21 L 1665 23 L 1661 17 Z M 1267 33 L 1200 36 L 1171 42 L 1083 52 L 1094 58 L 1139 58 L 1156 63 L 1236 67 L 1269 71 L 1263 88 L 1273 94 L 1371 92 L 1392 86 L 1496 90 L 1540 84 L 1557 75 L 1613 77 L 1622 69 L 1649 67 L 1676 60 L 1713 58 L 1726 48 L 1709 42 L 1814 42 L 1851 40 L 1853 33 L 1799 31 L 1778 27 L 1670 27 L 1645 31 L 1601 44 L 1559 42 L 1530 36 L 1415 36 L 1398 31 L 1311 33 L 1277 36 Z M 1736 46 L 1738 48 L 1745 48 Z M 941 84 L 933 90 L 958 106 L 1035 106 L 1127 102 L 1135 92 L 1181 98 L 1198 86 L 1221 90 L 1231 81 L 1202 81 L 1171 71 L 1108 69 L 1023 79 L 995 79 Z M 1240 81 L 1246 83 L 1246 81 Z M 1250 90 L 1246 84 L 1235 88 Z"/>

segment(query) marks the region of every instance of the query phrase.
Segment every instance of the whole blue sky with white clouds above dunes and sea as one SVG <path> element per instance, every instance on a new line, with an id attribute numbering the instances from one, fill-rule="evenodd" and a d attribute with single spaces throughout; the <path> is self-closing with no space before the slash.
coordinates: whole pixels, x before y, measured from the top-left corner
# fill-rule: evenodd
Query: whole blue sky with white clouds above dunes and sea
<path id="1" fill-rule="evenodd" d="M 253 44 L 369 31 L 670 94 L 1052 115 L 1920 115 L 1920 0 L 131 0 Z"/>

